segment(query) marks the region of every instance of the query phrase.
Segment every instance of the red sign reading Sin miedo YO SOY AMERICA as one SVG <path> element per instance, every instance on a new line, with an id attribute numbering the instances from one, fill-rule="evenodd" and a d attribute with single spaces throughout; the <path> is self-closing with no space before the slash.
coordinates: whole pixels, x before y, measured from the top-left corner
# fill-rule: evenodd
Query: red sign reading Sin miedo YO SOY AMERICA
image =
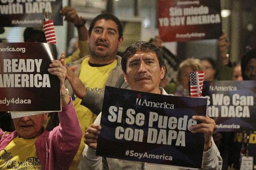
<path id="1" fill-rule="evenodd" d="M 157 0 L 161 39 L 192 41 L 221 36 L 220 0 Z"/>

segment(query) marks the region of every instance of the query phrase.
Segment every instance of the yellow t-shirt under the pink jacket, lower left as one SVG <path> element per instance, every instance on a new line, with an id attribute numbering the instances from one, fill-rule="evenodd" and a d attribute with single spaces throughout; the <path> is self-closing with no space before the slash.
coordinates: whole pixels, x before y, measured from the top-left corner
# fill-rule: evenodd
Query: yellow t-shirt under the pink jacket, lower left
<path id="1" fill-rule="evenodd" d="M 0 170 L 41 170 L 36 139 L 14 138 L 0 151 Z"/>

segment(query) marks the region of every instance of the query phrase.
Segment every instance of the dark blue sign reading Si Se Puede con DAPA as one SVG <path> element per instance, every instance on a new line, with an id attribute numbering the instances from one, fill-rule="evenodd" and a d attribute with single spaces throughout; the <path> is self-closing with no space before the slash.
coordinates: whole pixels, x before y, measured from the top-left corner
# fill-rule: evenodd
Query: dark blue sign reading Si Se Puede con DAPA
<path id="1" fill-rule="evenodd" d="M 206 107 L 206 98 L 106 86 L 96 155 L 201 168 L 204 136 L 189 127 Z"/>

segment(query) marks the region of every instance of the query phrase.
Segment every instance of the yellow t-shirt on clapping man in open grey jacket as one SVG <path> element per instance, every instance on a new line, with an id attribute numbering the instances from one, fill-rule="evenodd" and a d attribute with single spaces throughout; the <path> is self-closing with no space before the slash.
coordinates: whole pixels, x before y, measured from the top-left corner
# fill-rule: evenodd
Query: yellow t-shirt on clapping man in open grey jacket
<path id="1" fill-rule="evenodd" d="M 109 65 L 101 67 L 91 67 L 88 61 L 89 57 L 84 59 L 81 63 L 79 79 L 84 83 L 84 86 L 87 88 L 87 90 L 94 91 L 96 93 L 101 93 L 109 74 L 114 68 L 116 68 L 117 60 L 114 60 L 114 62 L 112 62 Z M 81 101 L 81 99 L 76 97 L 73 103 L 75 105 L 76 114 L 78 116 L 79 123 L 82 128 L 84 136 L 85 130 L 91 124 L 93 124 L 97 116 L 93 114 L 88 108 L 84 107 L 83 105 L 80 105 Z M 81 139 L 79 150 L 76 153 L 76 156 L 70 166 L 70 170 L 77 170 L 77 166 L 80 162 L 83 150 L 84 138 Z"/>

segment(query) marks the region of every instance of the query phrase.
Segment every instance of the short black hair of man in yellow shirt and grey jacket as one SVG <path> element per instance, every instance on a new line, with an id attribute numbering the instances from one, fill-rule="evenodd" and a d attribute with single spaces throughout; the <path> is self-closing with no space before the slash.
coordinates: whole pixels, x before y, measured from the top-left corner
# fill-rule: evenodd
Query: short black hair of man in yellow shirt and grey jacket
<path id="1" fill-rule="evenodd" d="M 92 20 L 92 23 L 90 24 L 90 27 L 89 27 L 89 36 L 91 35 L 92 33 L 92 30 L 93 30 L 93 27 L 95 26 L 95 23 L 98 21 L 98 20 L 101 20 L 101 19 L 105 19 L 105 20 L 112 20 L 116 23 L 117 25 L 117 29 L 118 29 L 118 34 L 119 34 L 119 40 L 120 38 L 123 36 L 122 32 L 123 32 L 123 27 L 122 27 L 122 23 L 121 21 L 116 17 L 114 16 L 113 14 L 99 14 L 97 17 L 95 17 L 93 20 Z"/>

